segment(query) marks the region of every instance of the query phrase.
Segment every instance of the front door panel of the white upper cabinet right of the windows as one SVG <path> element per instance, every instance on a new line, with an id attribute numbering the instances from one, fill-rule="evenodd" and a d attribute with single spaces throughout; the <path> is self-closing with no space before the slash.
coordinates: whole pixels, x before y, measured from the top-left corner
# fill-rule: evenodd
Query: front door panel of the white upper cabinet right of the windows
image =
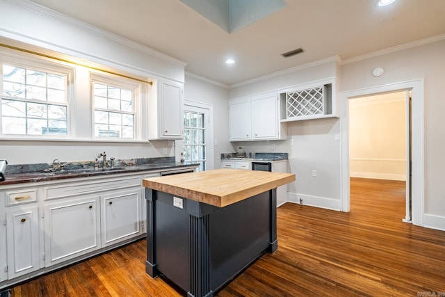
<path id="1" fill-rule="evenodd" d="M 159 115 L 160 138 L 183 138 L 184 115 L 182 84 L 161 81 L 159 86 L 161 110 Z"/>

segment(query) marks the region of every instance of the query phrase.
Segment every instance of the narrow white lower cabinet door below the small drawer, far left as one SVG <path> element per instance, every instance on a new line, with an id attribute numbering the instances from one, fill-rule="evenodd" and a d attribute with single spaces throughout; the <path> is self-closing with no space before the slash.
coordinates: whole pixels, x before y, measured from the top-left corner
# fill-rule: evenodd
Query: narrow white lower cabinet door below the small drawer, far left
<path id="1" fill-rule="evenodd" d="M 9 279 L 40 268 L 39 231 L 37 205 L 6 211 Z"/>

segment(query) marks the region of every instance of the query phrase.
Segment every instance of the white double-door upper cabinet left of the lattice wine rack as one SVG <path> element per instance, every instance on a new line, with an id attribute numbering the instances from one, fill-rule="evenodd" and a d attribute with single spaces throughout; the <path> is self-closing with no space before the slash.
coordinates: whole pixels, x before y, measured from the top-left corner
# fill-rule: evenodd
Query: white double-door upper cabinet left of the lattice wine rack
<path id="1" fill-rule="evenodd" d="M 230 100 L 230 141 L 286 139 L 280 112 L 280 100 L 275 94 Z"/>

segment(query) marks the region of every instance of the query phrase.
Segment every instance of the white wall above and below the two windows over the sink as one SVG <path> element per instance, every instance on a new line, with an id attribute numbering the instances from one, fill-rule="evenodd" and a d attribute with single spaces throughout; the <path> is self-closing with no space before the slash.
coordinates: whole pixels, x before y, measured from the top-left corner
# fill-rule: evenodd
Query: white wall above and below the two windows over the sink
<path id="1" fill-rule="evenodd" d="M 186 63 L 105 31 L 51 12 L 32 2 L 0 1 L 0 43 L 61 53 L 137 77 L 184 82 Z M 17 19 L 20 22 L 17 22 Z M 79 119 L 82 117 L 79 115 Z M 167 154 L 163 154 L 163 148 Z M 0 158 L 9 164 L 90 161 L 99 152 L 116 159 L 175 156 L 167 141 L 151 143 L 4 141 Z"/>

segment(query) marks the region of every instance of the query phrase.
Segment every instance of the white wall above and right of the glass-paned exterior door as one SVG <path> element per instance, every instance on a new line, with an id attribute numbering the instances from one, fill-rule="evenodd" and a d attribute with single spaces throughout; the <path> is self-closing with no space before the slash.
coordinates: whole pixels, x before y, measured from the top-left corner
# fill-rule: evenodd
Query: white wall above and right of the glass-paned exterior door
<path id="1" fill-rule="evenodd" d="M 215 83 L 186 74 L 184 99 L 213 106 L 213 143 L 209 144 L 209 149 L 213 149 L 214 168 L 221 167 L 221 153 L 233 151 L 229 143 L 229 104 L 227 97 L 228 90 L 224 86 L 218 86 Z"/>

